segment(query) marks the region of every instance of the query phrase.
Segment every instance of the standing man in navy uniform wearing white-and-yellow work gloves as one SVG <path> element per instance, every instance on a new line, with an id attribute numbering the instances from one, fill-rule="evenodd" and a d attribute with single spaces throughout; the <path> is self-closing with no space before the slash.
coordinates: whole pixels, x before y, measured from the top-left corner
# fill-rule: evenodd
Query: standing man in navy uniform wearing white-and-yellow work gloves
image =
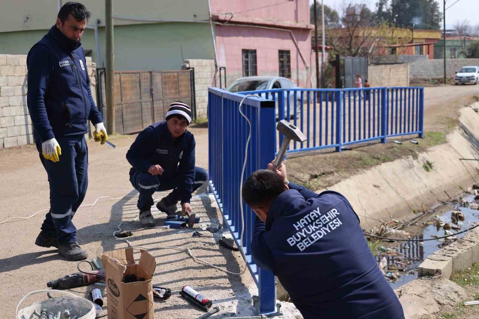
<path id="1" fill-rule="evenodd" d="M 27 104 L 50 184 L 50 211 L 35 244 L 57 247 L 68 260 L 88 256 L 77 243 L 77 228 L 72 223 L 88 186 L 87 120 L 95 125 L 95 141 L 103 144 L 108 139 L 91 96 L 80 43 L 90 16 L 81 3 L 65 3 L 57 23 L 27 56 Z"/>

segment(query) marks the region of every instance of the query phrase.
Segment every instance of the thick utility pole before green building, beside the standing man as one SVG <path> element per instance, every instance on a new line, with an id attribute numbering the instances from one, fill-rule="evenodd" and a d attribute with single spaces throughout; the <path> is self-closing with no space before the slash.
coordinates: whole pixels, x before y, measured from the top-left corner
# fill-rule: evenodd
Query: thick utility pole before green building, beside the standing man
<path id="1" fill-rule="evenodd" d="M 105 0 L 105 36 L 106 36 L 106 130 L 108 134 L 115 133 L 115 100 L 113 95 L 114 85 L 114 41 L 113 41 L 113 0 Z"/>

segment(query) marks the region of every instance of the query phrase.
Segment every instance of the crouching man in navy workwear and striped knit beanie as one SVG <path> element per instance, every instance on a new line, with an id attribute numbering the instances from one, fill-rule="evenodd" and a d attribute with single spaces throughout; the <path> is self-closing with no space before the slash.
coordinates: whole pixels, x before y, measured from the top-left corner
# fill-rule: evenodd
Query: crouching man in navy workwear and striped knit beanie
<path id="1" fill-rule="evenodd" d="M 172 215 L 181 201 L 184 215 L 191 213 L 191 194 L 207 179 L 205 169 L 194 166 L 194 136 L 186 130 L 190 123 L 190 107 L 182 102 L 171 103 L 166 121 L 145 128 L 126 153 L 133 166 L 130 182 L 140 193 L 139 219 L 145 227 L 155 226 L 150 211 L 155 192 L 172 190 L 156 206 Z"/>

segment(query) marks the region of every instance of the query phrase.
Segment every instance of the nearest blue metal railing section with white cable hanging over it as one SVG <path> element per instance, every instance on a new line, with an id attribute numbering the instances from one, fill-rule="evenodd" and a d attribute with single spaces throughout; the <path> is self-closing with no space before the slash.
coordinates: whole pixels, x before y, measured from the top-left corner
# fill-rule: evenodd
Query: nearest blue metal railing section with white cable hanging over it
<path id="1" fill-rule="evenodd" d="M 239 113 L 244 95 L 208 89 L 209 184 L 223 214 L 223 227 L 228 228 L 238 247 L 242 247 L 251 275 L 258 286 L 260 313 L 272 313 L 276 305 L 273 273 L 256 266 L 251 256 L 251 238 L 256 215 L 243 203 L 244 234 L 241 242 L 239 187 L 253 171 L 264 169 L 274 159 L 274 102 L 247 98 L 241 111 L 251 121 L 251 142 L 243 181 L 241 170 L 250 127 Z"/>

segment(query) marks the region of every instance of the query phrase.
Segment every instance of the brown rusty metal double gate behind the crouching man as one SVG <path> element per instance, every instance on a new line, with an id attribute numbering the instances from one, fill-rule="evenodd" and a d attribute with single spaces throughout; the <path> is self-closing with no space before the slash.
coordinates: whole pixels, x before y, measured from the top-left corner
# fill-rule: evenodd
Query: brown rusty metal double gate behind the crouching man
<path id="1" fill-rule="evenodd" d="M 96 75 L 97 102 L 106 125 L 105 68 L 97 68 Z M 195 118 L 193 83 L 194 70 L 114 72 L 115 131 L 140 132 L 164 120 L 175 101 L 190 105 Z"/>

